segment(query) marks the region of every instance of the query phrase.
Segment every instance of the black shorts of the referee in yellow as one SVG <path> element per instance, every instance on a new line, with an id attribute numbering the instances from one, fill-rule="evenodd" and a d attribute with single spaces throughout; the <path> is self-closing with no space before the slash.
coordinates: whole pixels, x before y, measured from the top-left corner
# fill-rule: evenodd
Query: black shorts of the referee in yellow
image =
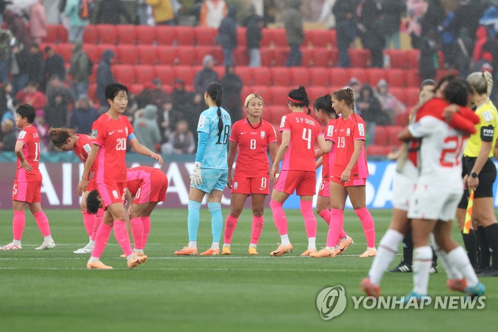
<path id="1" fill-rule="evenodd" d="M 469 175 L 472 171 L 472 167 L 476 163 L 477 158 L 464 157 L 462 161 L 462 178 L 465 175 Z M 474 192 L 474 198 L 483 198 L 483 197 L 493 197 L 493 183 L 495 183 L 495 179 L 497 178 L 497 168 L 495 164 L 488 158 L 486 164 L 484 164 L 483 169 L 479 173 L 479 185 Z M 469 190 L 465 190 L 464 195 L 462 196 L 462 200 L 460 204 L 458 204 L 459 208 L 466 209 L 467 204 L 469 202 Z"/>

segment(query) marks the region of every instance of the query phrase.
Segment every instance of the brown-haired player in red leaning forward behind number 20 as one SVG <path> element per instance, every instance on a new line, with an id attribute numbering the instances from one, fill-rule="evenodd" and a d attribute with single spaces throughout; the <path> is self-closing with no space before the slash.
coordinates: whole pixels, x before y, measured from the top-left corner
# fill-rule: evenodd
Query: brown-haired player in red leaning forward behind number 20
<path id="1" fill-rule="evenodd" d="M 48 134 L 52 138 L 54 147 L 63 151 L 74 151 L 81 162 L 83 164 L 86 163 L 88 154 L 92 150 L 92 138 L 90 136 L 84 134 L 76 134 L 76 130 L 70 128 L 50 128 Z M 83 197 L 80 203 L 81 213 L 83 214 L 83 225 L 85 226 L 90 240 L 85 247 L 74 251 L 75 254 L 92 253 L 93 247 L 95 245 L 93 229 L 96 224 L 97 227 L 98 225 L 100 225 L 100 223 L 102 222 L 102 217 L 104 216 L 104 209 L 99 209 L 97 215 L 89 214 L 87 212 L 86 198 L 88 196 L 88 193 L 94 189 L 97 189 L 97 183 L 95 182 L 95 176 L 97 174 L 96 163 L 94 163 L 90 171 L 92 172 L 93 177 L 88 179 L 88 188 L 83 193 Z"/>

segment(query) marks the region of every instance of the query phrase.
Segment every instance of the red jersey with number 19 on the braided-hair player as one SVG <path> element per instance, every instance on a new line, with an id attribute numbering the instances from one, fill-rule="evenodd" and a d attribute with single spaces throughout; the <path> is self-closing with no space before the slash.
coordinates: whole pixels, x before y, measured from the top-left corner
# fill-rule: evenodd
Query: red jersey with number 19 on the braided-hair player
<path id="1" fill-rule="evenodd" d="M 355 151 L 355 141 L 365 141 L 365 122 L 358 114 L 351 114 L 347 119 L 343 119 L 341 116 L 336 120 L 333 129 L 332 142 L 336 148 L 330 175 L 341 177 Z M 369 170 L 364 145 L 358 163 L 351 170 L 350 179 L 367 178 L 368 176 Z"/>

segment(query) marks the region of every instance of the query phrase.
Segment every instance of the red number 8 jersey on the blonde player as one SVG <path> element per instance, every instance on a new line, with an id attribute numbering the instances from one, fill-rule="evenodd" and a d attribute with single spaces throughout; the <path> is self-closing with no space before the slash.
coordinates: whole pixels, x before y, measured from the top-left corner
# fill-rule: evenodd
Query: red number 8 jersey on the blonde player
<path id="1" fill-rule="evenodd" d="M 230 141 L 237 143 L 237 165 L 234 176 L 264 177 L 269 173 L 268 144 L 275 143 L 277 136 L 275 128 L 264 120 L 253 127 L 247 119 L 242 119 L 232 126 Z"/>

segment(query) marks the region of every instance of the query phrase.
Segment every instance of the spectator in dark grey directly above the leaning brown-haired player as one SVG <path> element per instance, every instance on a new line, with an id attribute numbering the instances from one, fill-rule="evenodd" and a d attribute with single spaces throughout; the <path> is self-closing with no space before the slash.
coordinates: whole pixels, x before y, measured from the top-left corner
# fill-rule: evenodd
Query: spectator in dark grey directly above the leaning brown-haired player
<path id="1" fill-rule="evenodd" d="M 73 91 L 65 87 L 57 76 L 50 78 L 47 87 L 45 114 L 51 127 L 67 127 L 69 106 L 75 101 Z"/>

